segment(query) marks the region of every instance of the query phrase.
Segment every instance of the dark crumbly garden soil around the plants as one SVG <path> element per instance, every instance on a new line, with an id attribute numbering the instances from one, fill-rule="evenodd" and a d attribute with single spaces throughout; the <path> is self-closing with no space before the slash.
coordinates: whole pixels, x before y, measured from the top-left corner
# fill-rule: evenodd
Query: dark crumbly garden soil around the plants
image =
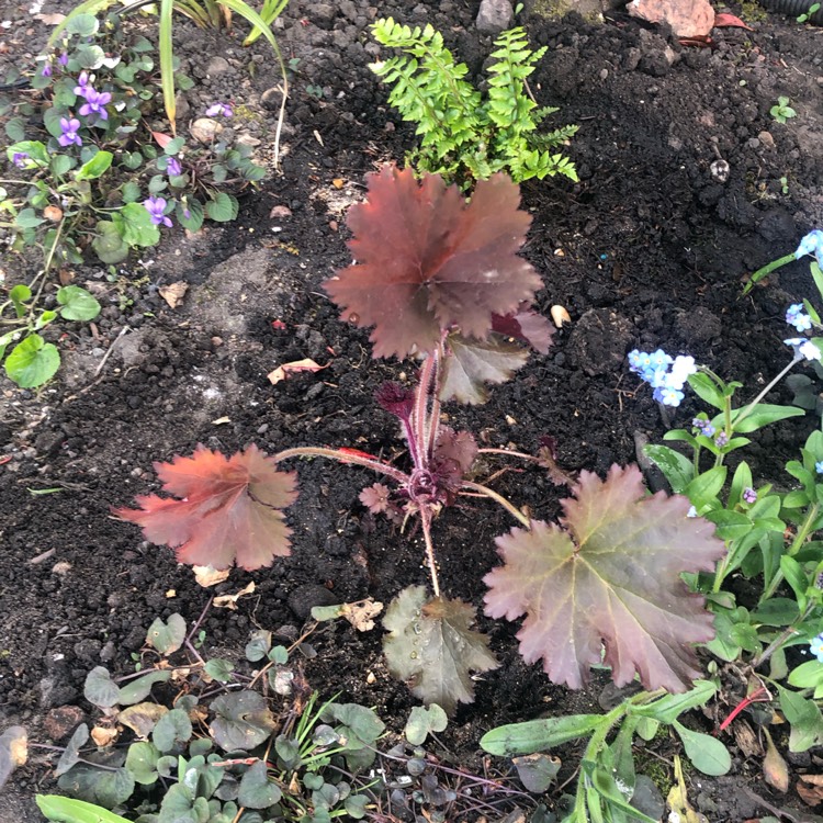
<path id="1" fill-rule="evenodd" d="M 11 21 L 0 33 L 3 59 L 36 54 L 43 23 L 24 4 L 5 0 L 0 8 Z M 377 53 L 368 23 L 388 14 L 431 22 L 475 74 L 491 45 L 474 27 L 476 11 L 477 2 L 463 0 L 414 8 L 293 2 L 281 45 L 300 64 L 282 173 L 243 200 L 237 223 L 194 237 L 168 230 L 116 283 L 93 266 L 78 270 L 77 282 L 91 283 L 103 302 L 102 316 L 54 329 L 65 367 L 45 390 L 0 381 L 0 728 L 22 723 L 33 740 L 65 741 L 71 728 L 56 728 L 55 710 L 77 706 L 92 717 L 82 697 L 90 668 L 133 670 L 157 616 L 179 612 L 191 623 L 215 593 L 198 586 L 168 549 L 142 542 L 135 527 L 111 517 L 112 506 L 157 489 L 153 461 L 189 454 L 198 443 L 230 453 L 250 442 L 269 452 L 339 444 L 403 461 L 395 425 L 373 393 L 388 377 L 413 379 L 414 365 L 372 361 L 368 334 L 339 320 L 320 283 L 350 261 L 345 210 L 363 198 L 364 174 L 414 145 L 413 129 L 387 108 L 386 90 L 368 69 Z M 782 314 L 812 293 L 808 266 L 783 269 L 747 297 L 741 286 L 747 272 L 823 226 L 823 31 L 779 15 L 753 19 L 753 11 L 742 14 L 754 31 L 714 30 L 711 48 L 684 47 L 622 11 L 599 25 L 575 14 L 561 22 L 529 16 L 532 44 L 550 46 L 532 88 L 541 103 L 561 106 L 552 127 L 579 124 L 568 154 L 580 182 L 522 187 L 533 215 L 523 253 L 544 280 L 539 308 L 548 314 L 562 304 L 573 323 L 548 356 L 533 356 L 517 380 L 495 387 L 488 404 L 446 409 L 483 443 L 533 452 L 550 435 L 567 471 L 604 473 L 635 461 L 638 443 L 658 441 L 667 427 L 628 372 L 630 349 L 694 354 L 742 381 L 744 396 L 787 362 Z M 179 53 L 201 81 L 189 93 L 192 114 L 232 99 L 239 109 L 234 126 L 261 140 L 270 159 L 274 112 L 267 106 L 278 102 L 275 92 L 264 94 L 278 79 L 270 55 L 263 46 L 244 50 L 239 37 L 184 23 L 179 31 Z M 307 86 L 322 87 L 323 98 Z M 769 116 L 778 95 L 798 112 L 785 125 Z M 726 182 L 712 177 L 718 159 L 730 166 Z M 3 267 L 12 281 L 34 272 L 8 257 Z M 158 286 L 181 280 L 190 289 L 171 309 Z M 277 385 L 267 380 L 303 358 L 327 368 Z M 688 399 L 672 424 L 697 410 Z M 748 460 L 758 476 L 787 483 L 782 464 L 813 425 L 789 421 L 756 436 Z M 369 596 L 387 602 L 403 586 L 427 580 L 419 534 L 398 533 L 359 503 L 372 477 L 322 461 L 294 469 L 302 491 L 289 515 L 293 555 L 260 573 L 235 571 L 217 587 L 230 594 L 256 586 L 236 611 L 207 612 L 210 653 L 239 658 L 257 627 L 301 628 L 316 604 Z M 538 471 L 514 469 L 495 488 L 535 516 L 555 517 L 565 489 Z M 36 494 L 43 489 L 53 493 Z M 482 579 L 497 562 L 494 538 L 512 525 L 474 499 L 440 517 L 435 537 L 448 594 L 482 610 Z M 442 735 L 453 763 L 483 769 L 477 741 L 493 725 L 598 710 L 602 684 L 582 694 L 554 687 L 518 656 L 517 625 L 482 613 L 478 625 L 500 667 L 478 680 L 476 701 Z M 415 700 L 386 672 L 380 629 L 361 634 L 332 623 L 311 643 L 317 655 L 303 665 L 314 688 L 375 707 L 393 731 L 402 729 Z M 742 696 L 729 686 L 721 714 Z M 708 720 L 694 722 L 710 729 Z M 734 755 L 731 775 L 692 774 L 688 787 L 709 820 L 765 815 L 752 791 L 776 807 L 802 808 L 796 794 L 781 797 L 762 782 L 756 751 L 746 756 L 734 737 L 724 740 Z M 677 751 L 674 742 L 655 746 L 664 758 Z M 576 754 L 562 754 L 567 778 Z M 813 754 L 792 757 L 792 777 L 819 771 L 818 763 Z M 0 794 L 0 821 L 38 820 L 31 798 L 52 786 L 47 762 L 33 754 Z"/>

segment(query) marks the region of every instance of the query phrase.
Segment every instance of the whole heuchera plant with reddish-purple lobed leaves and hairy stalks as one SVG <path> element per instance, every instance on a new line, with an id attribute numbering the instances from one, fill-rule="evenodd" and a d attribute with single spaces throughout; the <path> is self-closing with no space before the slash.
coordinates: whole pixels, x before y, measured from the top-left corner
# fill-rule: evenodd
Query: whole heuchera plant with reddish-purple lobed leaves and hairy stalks
<path id="1" fill-rule="evenodd" d="M 574 482 L 537 456 L 481 449 L 467 431 L 440 421 L 441 403 L 483 403 L 528 357 L 548 351 L 551 327 L 531 309 L 542 282 L 517 252 L 529 227 L 519 191 L 503 173 L 480 181 L 470 202 L 437 174 L 418 183 L 410 169 L 385 167 L 369 179 L 367 203 L 352 206 L 349 247 L 356 263 L 325 283 L 348 323 L 371 327 L 375 358 L 420 360 L 414 390 L 390 383 L 380 405 L 397 417 L 407 471 L 352 449 L 301 447 L 266 456 L 255 447 L 224 458 L 200 448 L 192 458 L 156 464 L 177 498 L 138 498 L 117 515 L 147 539 L 177 549 L 181 562 L 247 570 L 289 553 L 282 509 L 295 497 L 294 475 L 278 465 L 324 456 L 383 475 L 361 494 L 374 512 L 419 520 L 432 593 L 412 586 L 390 606 L 385 652 L 392 673 L 425 702 L 453 711 L 473 700 L 471 672 L 496 667 L 488 639 L 471 625 L 471 607 L 441 593 L 432 525 L 462 494 L 500 504 L 519 527 L 497 538 L 504 565 L 485 582 L 486 613 L 526 615 L 519 633 L 528 661 L 549 676 L 584 685 L 605 662 L 618 684 L 640 675 L 649 689 L 684 690 L 699 674 L 692 644 L 709 641 L 711 616 L 690 594 L 684 572 L 711 571 L 723 553 L 713 526 L 687 517 L 689 501 L 647 496 L 640 471 L 612 466 L 601 481 Z M 561 523 L 532 520 L 488 486 L 470 480 L 480 453 L 517 456 L 571 486 Z"/>

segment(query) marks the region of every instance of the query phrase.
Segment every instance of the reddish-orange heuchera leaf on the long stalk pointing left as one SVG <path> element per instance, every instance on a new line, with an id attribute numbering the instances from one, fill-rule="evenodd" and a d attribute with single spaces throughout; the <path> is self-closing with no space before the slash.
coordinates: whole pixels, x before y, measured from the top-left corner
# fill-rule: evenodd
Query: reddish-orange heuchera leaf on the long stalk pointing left
<path id="1" fill-rule="evenodd" d="M 164 491 L 137 497 L 139 509 L 114 514 L 143 527 L 146 540 L 176 550 L 181 563 L 248 571 L 289 554 L 281 509 L 297 497 L 296 474 L 281 472 L 256 446 L 226 458 L 199 446 L 191 458 L 155 463 Z"/>

